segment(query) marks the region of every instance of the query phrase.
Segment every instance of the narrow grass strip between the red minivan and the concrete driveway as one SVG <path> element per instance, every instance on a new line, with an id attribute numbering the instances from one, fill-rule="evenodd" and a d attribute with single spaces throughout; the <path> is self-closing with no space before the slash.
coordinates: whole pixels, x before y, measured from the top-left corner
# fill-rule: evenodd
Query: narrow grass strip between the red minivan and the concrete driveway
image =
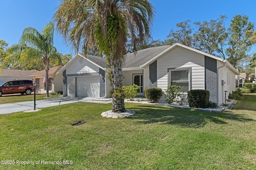
<path id="1" fill-rule="evenodd" d="M 49 94 L 50 98 L 58 98 L 59 96 L 60 95 Z M 36 100 L 41 100 L 45 98 L 46 98 L 46 94 L 36 94 Z M 3 95 L 0 97 L 0 104 L 25 102 L 25 101 L 32 101 L 32 100 L 34 100 L 34 93 L 30 95 L 25 95 L 25 94 L 15 94 L 10 96 Z"/>

